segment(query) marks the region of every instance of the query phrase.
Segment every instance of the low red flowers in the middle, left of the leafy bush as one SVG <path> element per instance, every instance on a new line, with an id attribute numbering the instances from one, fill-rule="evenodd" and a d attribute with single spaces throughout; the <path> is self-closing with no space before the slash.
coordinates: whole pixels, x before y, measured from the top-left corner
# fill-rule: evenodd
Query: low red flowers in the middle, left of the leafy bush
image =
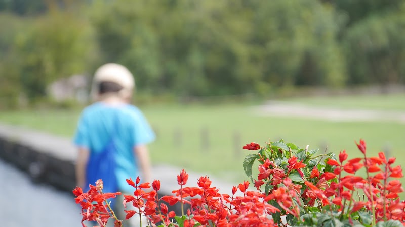
<path id="1" fill-rule="evenodd" d="M 147 188 L 149 183 L 138 185 L 128 180 L 129 184 L 135 187 L 134 196 L 125 196 L 127 202 L 132 202 L 138 211 L 126 211 L 130 218 L 133 214 L 144 214 L 148 217 L 149 225 L 162 223 L 163 226 L 175 225 L 170 218 L 175 217 L 173 211 L 168 212 L 168 207 L 163 203 L 175 205 L 180 202 L 182 205 L 181 221 L 182 226 L 272 226 L 273 221 L 267 218 L 268 214 L 279 212 L 279 209 L 267 203 L 262 193 L 248 191 L 249 182 L 245 181 L 238 187 L 233 187 L 232 195 L 219 193 L 216 187 L 211 186 L 208 177 L 198 179 L 198 187 L 184 187 L 188 180 L 188 174 L 181 171 L 177 176 L 180 189 L 174 190 L 174 195 L 158 198 L 160 182 L 155 180 L 152 183 L 153 190 L 146 193 L 142 188 Z M 142 187 L 140 187 L 142 186 Z M 243 196 L 235 196 L 237 190 Z M 187 199 L 185 199 L 187 198 Z M 140 202 L 145 199 L 146 203 Z M 183 210 L 183 204 L 189 204 L 190 209 Z M 179 225 L 177 223 L 176 225 Z"/>

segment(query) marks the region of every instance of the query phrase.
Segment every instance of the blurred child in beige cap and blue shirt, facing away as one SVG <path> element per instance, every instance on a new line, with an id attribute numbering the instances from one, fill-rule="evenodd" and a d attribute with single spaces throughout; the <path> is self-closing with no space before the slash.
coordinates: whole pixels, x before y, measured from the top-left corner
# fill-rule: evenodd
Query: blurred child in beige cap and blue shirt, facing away
<path id="1" fill-rule="evenodd" d="M 74 136 L 77 186 L 84 190 L 102 179 L 103 192 L 133 194 L 126 179 L 141 176 L 142 182 L 151 182 L 147 144 L 155 134 L 142 112 L 130 104 L 134 87 L 133 75 L 119 64 L 105 64 L 94 75 L 95 102 L 83 110 Z M 121 220 L 122 200 L 114 206 Z"/>

